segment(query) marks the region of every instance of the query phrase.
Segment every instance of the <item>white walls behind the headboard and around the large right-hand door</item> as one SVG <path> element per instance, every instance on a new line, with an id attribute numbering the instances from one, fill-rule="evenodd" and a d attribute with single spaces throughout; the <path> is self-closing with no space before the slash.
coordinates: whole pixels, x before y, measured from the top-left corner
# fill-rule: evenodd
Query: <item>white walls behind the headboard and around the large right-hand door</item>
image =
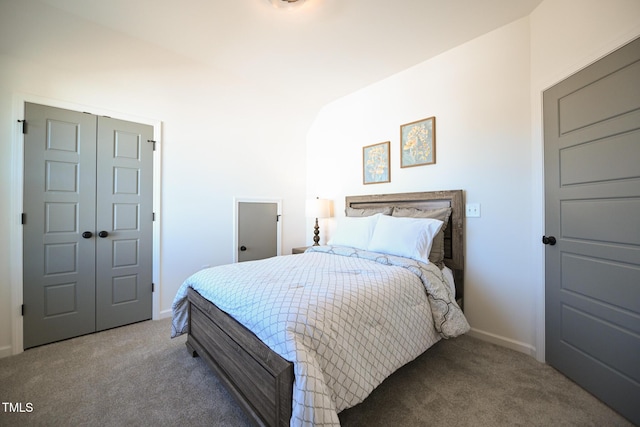
<path id="1" fill-rule="evenodd" d="M 308 138 L 308 193 L 333 198 L 341 214 L 345 195 L 465 190 L 482 212 L 466 220 L 471 334 L 544 360 L 541 93 L 639 25 L 634 0 L 546 0 L 528 18 L 325 106 Z M 399 126 L 429 116 L 437 163 L 401 169 Z M 363 185 L 362 147 L 383 141 L 391 183 Z"/>

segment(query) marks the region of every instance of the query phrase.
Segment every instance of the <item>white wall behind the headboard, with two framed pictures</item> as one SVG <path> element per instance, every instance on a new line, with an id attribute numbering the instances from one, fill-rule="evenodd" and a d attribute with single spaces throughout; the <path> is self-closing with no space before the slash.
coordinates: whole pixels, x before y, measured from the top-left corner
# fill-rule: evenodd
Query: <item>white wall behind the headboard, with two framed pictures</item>
<path id="1" fill-rule="evenodd" d="M 307 148 L 309 192 L 334 198 L 340 214 L 355 194 L 463 189 L 480 203 L 482 216 L 466 220 L 465 312 L 475 333 L 528 351 L 529 68 L 522 19 L 326 106 Z M 436 164 L 400 168 L 400 125 L 430 116 Z M 383 141 L 391 141 L 391 182 L 363 185 L 362 147 Z"/>

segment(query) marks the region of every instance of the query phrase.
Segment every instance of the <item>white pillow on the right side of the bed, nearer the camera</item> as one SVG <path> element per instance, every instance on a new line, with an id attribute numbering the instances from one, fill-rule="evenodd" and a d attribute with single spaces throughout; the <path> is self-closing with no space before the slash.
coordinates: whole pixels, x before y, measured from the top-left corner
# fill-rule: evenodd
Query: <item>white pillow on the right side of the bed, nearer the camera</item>
<path id="1" fill-rule="evenodd" d="M 433 218 L 378 218 L 368 250 L 429 263 L 433 238 L 442 221 Z"/>

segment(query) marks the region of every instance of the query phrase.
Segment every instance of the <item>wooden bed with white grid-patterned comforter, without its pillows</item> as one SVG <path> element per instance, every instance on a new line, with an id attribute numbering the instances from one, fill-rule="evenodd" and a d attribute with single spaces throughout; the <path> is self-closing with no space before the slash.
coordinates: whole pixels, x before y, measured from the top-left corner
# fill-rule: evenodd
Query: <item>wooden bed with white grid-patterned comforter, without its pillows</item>
<path id="1" fill-rule="evenodd" d="M 342 409 L 439 339 L 469 328 L 461 311 L 462 191 L 348 196 L 345 202 L 347 216 L 363 217 L 350 224 L 377 221 L 381 214 L 372 213 L 380 211 L 385 221 L 394 211 L 401 217 L 448 211 L 440 233 L 443 265 L 331 244 L 203 270 L 174 300 L 172 337 L 188 333 L 191 354 L 207 362 L 256 425 L 339 425 Z M 344 305 L 328 305 L 334 299 Z M 283 300 L 305 311 L 283 309 Z M 249 314 L 240 311 L 247 307 Z M 320 307 L 329 313 L 317 315 Z M 401 313 L 400 320 L 383 323 L 386 314 L 378 310 Z M 361 341 L 366 350 L 355 347 Z"/>

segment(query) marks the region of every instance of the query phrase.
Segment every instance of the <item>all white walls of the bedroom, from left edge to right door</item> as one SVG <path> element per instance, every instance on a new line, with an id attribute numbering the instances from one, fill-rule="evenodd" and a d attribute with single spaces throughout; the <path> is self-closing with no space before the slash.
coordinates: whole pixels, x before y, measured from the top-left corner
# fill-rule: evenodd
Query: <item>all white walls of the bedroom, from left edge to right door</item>
<path id="1" fill-rule="evenodd" d="M 311 240 L 307 194 L 333 198 L 340 212 L 345 195 L 460 188 L 482 205 L 482 217 L 466 221 L 473 333 L 544 357 L 540 94 L 639 35 L 640 2 L 546 0 L 528 19 L 327 105 L 306 146 L 310 117 L 296 109 L 210 87 L 198 63 L 30 4 L 10 5 L 24 5 L 31 31 L 0 20 L 0 357 L 14 351 L 11 301 L 21 300 L 11 292 L 20 207 L 9 206 L 21 97 L 162 122 L 165 314 L 188 274 L 232 260 L 233 197 L 283 199 L 288 253 Z M 437 163 L 400 169 L 400 124 L 432 115 Z M 364 186 L 362 147 L 383 141 L 392 144 L 391 183 Z"/>

